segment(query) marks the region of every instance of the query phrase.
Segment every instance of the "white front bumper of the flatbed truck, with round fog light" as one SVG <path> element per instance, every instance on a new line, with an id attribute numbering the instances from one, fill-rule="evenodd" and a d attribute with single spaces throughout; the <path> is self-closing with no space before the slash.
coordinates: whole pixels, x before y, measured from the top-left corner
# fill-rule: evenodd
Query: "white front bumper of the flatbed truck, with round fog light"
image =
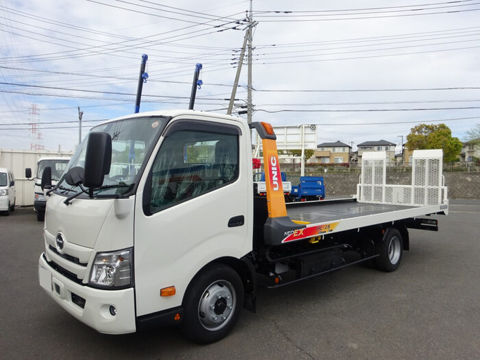
<path id="1" fill-rule="evenodd" d="M 80 285 L 53 269 L 45 255 L 38 261 L 40 286 L 68 313 L 105 334 L 136 331 L 134 289 L 102 290 Z M 83 305 L 83 308 L 81 307 Z M 110 307 L 116 315 L 110 313 Z"/>

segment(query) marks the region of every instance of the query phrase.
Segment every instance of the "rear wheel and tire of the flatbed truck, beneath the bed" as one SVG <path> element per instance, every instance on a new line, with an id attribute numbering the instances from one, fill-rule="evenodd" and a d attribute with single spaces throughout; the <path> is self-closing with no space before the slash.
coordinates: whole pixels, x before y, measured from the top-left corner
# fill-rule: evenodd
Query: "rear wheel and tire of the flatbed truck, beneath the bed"
<path id="1" fill-rule="evenodd" d="M 388 228 L 381 241 L 376 244 L 375 265 L 383 272 L 394 272 L 401 263 L 403 254 L 403 239 L 399 230 Z"/>

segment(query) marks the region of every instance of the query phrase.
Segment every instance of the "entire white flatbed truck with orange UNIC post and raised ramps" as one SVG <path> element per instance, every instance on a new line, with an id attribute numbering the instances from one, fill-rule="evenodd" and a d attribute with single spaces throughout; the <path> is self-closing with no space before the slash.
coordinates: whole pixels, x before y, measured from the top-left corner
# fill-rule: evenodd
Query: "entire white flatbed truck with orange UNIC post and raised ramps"
<path id="1" fill-rule="evenodd" d="M 257 286 L 370 259 L 392 272 L 407 228 L 438 230 L 422 216 L 448 213 L 440 150 L 414 153 L 410 185 L 386 184 L 385 154 L 364 154 L 356 197 L 286 204 L 273 129 L 252 127 L 266 197 L 253 193 L 251 129 L 237 117 L 170 110 L 92 128 L 47 195 L 42 288 L 101 333 L 179 324 L 205 344 L 255 311 Z M 110 176 L 125 156 L 129 169 Z"/>

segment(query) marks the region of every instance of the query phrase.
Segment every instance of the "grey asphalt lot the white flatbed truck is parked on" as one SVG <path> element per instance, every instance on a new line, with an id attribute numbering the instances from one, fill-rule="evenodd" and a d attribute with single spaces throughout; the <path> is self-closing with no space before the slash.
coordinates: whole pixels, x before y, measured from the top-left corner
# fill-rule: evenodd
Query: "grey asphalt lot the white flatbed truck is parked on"
<path id="1" fill-rule="evenodd" d="M 479 359 L 480 200 L 451 200 L 440 232 L 411 230 L 401 267 L 353 266 L 260 289 L 229 337 L 197 346 L 177 328 L 102 335 L 38 285 L 42 224 L 0 217 L 1 359 Z"/>

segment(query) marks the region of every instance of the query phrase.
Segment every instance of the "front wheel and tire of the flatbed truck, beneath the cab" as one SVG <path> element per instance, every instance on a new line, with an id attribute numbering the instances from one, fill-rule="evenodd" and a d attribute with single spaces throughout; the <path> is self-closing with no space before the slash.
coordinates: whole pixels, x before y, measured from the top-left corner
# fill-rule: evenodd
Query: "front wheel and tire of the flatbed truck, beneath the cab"
<path id="1" fill-rule="evenodd" d="M 227 265 L 207 265 L 188 286 L 181 330 L 197 344 L 210 344 L 231 331 L 243 307 L 244 289 Z"/>

